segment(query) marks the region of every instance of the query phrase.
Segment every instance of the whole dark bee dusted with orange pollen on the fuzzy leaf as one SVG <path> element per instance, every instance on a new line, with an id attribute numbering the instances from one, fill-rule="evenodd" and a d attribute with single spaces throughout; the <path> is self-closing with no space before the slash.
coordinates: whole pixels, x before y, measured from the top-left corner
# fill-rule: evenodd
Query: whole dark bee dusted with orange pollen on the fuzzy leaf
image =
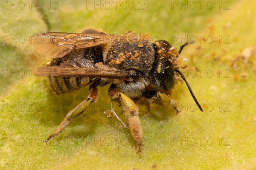
<path id="1" fill-rule="evenodd" d="M 97 86 L 109 83 L 108 95 L 111 101 L 119 102 L 125 113 L 137 153 L 142 149 L 143 132 L 136 103 L 172 103 L 168 91 L 174 87 L 177 75 L 186 82 L 195 103 L 203 111 L 177 60 L 190 42 L 181 45 L 178 51 L 166 40 L 150 42 L 148 37 L 148 34 L 131 31 L 106 34 L 94 28 L 84 29 L 81 34 L 47 32 L 32 37 L 35 50 L 52 57 L 47 66 L 38 68 L 48 77 L 50 91 L 64 94 L 90 84 L 87 98 L 67 113 L 44 142 L 61 133 L 96 102 Z"/>

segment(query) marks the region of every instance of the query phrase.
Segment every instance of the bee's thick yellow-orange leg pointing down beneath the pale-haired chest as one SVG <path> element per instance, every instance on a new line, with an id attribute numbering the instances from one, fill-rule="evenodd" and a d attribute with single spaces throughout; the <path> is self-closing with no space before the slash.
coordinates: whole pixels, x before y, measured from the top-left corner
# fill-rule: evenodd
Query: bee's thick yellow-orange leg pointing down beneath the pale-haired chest
<path id="1" fill-rule="evenodd" d="M 139 108 L 134 101 L 122 93 L 122 91 L 113 88 L 113 85 L 108 90 L 108 94 L 112 100 L 118 101 L 122 106 L 122 111 L 128 119 L 128 125 L 131 130 L 131 135 L 137 143 L 137 153 L 141 152 L 142 147 L 142 128 L 140 125 Z"/>

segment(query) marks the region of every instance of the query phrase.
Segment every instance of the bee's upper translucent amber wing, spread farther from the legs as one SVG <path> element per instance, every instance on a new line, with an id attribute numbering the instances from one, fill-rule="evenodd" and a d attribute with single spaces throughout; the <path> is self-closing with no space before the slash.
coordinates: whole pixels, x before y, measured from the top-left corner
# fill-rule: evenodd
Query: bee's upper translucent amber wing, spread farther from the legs
<path id="1" fill-rule="evenodd" d="M 121 35 L 114 34 L 78 34 L 65 32 L 47 32 L 31 38 L 35 51 L 52 58 L 61 58 L 74 49 L 106 45 Z"/>

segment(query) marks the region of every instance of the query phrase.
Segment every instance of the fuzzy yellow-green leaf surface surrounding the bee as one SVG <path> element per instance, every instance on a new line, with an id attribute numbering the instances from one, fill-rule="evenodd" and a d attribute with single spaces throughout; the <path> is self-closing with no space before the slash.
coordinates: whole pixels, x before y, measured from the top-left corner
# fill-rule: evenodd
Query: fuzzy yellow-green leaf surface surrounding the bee
<path id="1" fill-rule="evenodd" d="M 256 1 L 119 1 L 116 6 L 108 1 L 112 8 L 105 2 L 1 1 L 0 168 L 256 169 Z M 107 86 L 99 88 L 101 96 L 86 114 L 43 144 L 87 97 L 88 87 L 51 94 L 47 78 L 29 74 L 50 60 L 33 51 L 29 37 L 87 27 L 150 34 L 151 40 L 168 40 L 177 48 L 198 37 L 180 59 L 188 59 L 182 72 L 205 103 L 204 112 L 195 109 L 185 83 L 177 81 L 172 98 L 179 114 L 169 106 L 151 105 L 150 113 L 139 107 L 144 145 L 136 154 L 130 131 L 103 114 L 111 102 Z"/>

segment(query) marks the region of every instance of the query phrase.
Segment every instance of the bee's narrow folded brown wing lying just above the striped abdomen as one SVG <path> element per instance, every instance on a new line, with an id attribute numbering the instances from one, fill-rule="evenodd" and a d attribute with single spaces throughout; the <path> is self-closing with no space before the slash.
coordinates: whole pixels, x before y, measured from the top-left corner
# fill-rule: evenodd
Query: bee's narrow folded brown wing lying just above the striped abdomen
<path id="1" fill-rule="evenodd" d="M 101 67 L 102 66 L 102 67 Z M 127 71 L 114 70 L 108 66 L 100 65 L 100 67 L 84 67 L 76 68 L 69 66 L 46 66 L 37 68 L 35 75 L 38 77 L 95 77 L 95 78 L 108 78 L 108 79 L 123 79 L 126 81 L 133 81 L 131 74 Z"/>

